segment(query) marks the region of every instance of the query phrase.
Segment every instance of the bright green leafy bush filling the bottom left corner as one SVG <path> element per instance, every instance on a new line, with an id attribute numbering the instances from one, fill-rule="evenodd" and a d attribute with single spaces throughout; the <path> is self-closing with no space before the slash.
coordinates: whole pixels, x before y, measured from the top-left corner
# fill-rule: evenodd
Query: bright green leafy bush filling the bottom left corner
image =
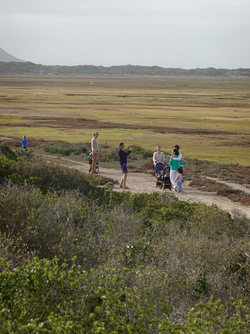
<path id="1" fill-rule="evenodd" d="M 142 270 L 66 270 L 56 259 L 11 270 L 2 260 L 2 333 L 156 333 L 171 309 L 157 279 Z"/>

